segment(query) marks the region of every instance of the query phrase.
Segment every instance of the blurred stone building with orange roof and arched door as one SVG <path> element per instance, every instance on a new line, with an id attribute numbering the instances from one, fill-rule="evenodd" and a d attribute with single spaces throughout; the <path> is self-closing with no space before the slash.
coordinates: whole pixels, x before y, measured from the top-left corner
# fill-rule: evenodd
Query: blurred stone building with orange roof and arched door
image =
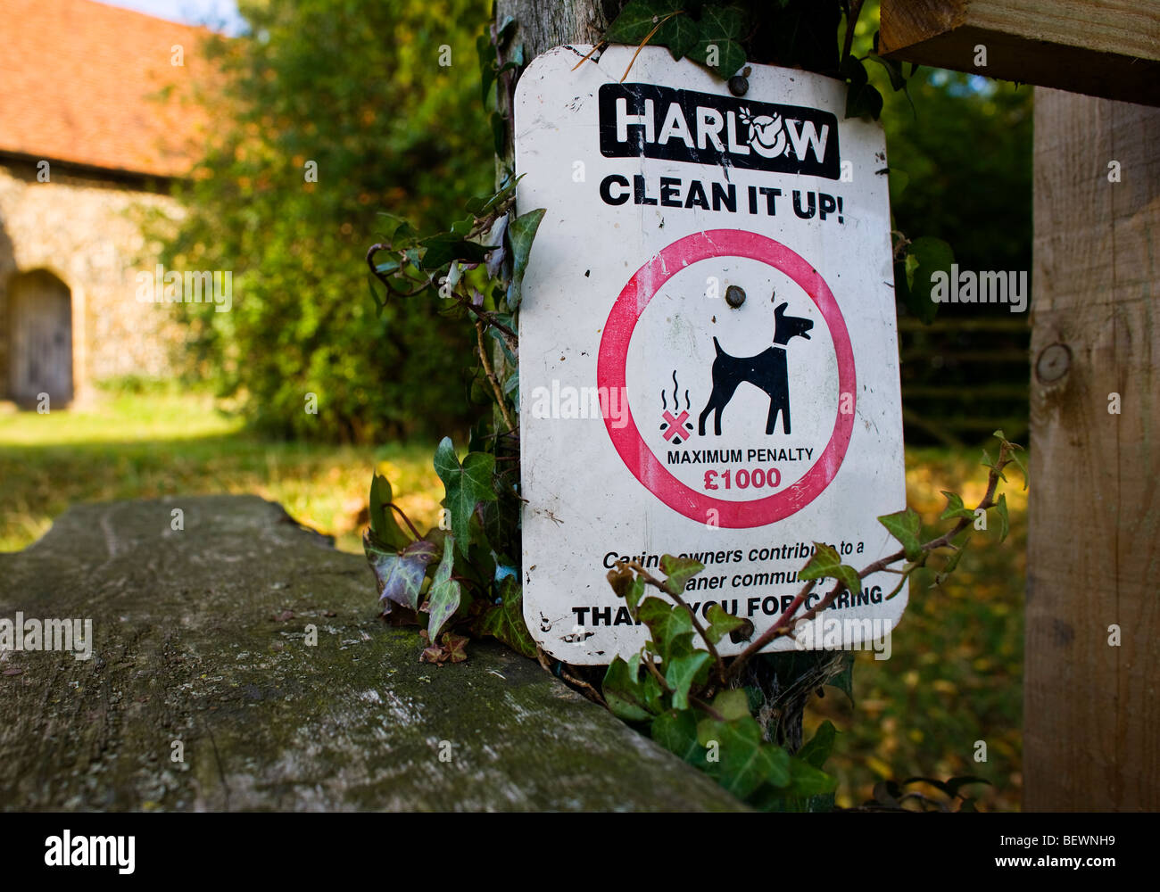
<path id="1" fill-rule="evenodd" d="M 210 32 L 90 0 L 0 0 L 0 400 L 165 376 L 182 329 L 137 299 L 160 248 L 142 220 L 180 215 Z"/>

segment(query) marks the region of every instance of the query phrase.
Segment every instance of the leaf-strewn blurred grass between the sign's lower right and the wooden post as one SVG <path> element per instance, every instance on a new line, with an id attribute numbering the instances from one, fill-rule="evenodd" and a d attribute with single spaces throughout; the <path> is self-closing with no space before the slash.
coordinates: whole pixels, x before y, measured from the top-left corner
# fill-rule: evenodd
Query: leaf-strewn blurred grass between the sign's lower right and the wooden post
<path id="1" fill-rule="evenodd" d="M 973 449 L 907 450 L 906 501 L 922 516 L 923 532 L 938 527 L 943 489 L 958 487 L 967 503 L 983 495 L 981 459 Z M 886 778 L 977 775 L 992 783 L 974 791 L 981 811 L 1018 811 L 1028 492 L 1018 472 L 1008 479 L 1008 543 L 974 534 L 955 573 L 937 588 L 928 588 L 934 571 L 918 571 L 890 660 L 856 654 L 856 705 L 829 692 L 811 699 L 806 734 L 826 720 L 843 732 L 828 766 L 842 779 L 840 806 L 871 798 L 875 784 Z M 977 740 L 987 745 L 986 762 L 974 761 Z"/>

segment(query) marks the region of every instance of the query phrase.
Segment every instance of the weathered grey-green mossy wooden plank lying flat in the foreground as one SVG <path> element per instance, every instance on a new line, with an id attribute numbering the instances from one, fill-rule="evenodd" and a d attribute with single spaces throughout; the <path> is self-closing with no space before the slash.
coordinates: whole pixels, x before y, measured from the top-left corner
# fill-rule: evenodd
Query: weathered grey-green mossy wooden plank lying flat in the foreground
<path id="1" fill-rule="evenodd" d="M 507 648 L 420 663 L 362 557 L 254 496 L 73 508 L 0 554 L 16 611 L 94 647 L 0 652 L 2 810 L 742 807 Z"/>

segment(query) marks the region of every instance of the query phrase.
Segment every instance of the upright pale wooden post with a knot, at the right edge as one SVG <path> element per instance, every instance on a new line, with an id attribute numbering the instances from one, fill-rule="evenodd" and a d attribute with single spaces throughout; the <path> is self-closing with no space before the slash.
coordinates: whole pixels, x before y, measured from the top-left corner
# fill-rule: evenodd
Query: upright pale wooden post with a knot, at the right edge
<path id="1" fill-rule="evenodd" d="M 1028 810 L 1160 807 L 1158 142 L 1160 110 L 1036 90 Z"/>

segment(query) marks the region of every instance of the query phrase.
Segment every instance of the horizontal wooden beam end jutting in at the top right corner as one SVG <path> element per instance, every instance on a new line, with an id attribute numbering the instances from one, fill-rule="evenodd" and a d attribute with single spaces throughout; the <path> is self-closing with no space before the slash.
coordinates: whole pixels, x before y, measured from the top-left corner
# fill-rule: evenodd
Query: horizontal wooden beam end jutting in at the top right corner
<path id="1" fill-rule="evenodd" d="M 976 48 L 986 48 L 986 66 Z M 1160 3 L 883 0 L 879 49 L 921 65 L 1160 106 Z"/>

